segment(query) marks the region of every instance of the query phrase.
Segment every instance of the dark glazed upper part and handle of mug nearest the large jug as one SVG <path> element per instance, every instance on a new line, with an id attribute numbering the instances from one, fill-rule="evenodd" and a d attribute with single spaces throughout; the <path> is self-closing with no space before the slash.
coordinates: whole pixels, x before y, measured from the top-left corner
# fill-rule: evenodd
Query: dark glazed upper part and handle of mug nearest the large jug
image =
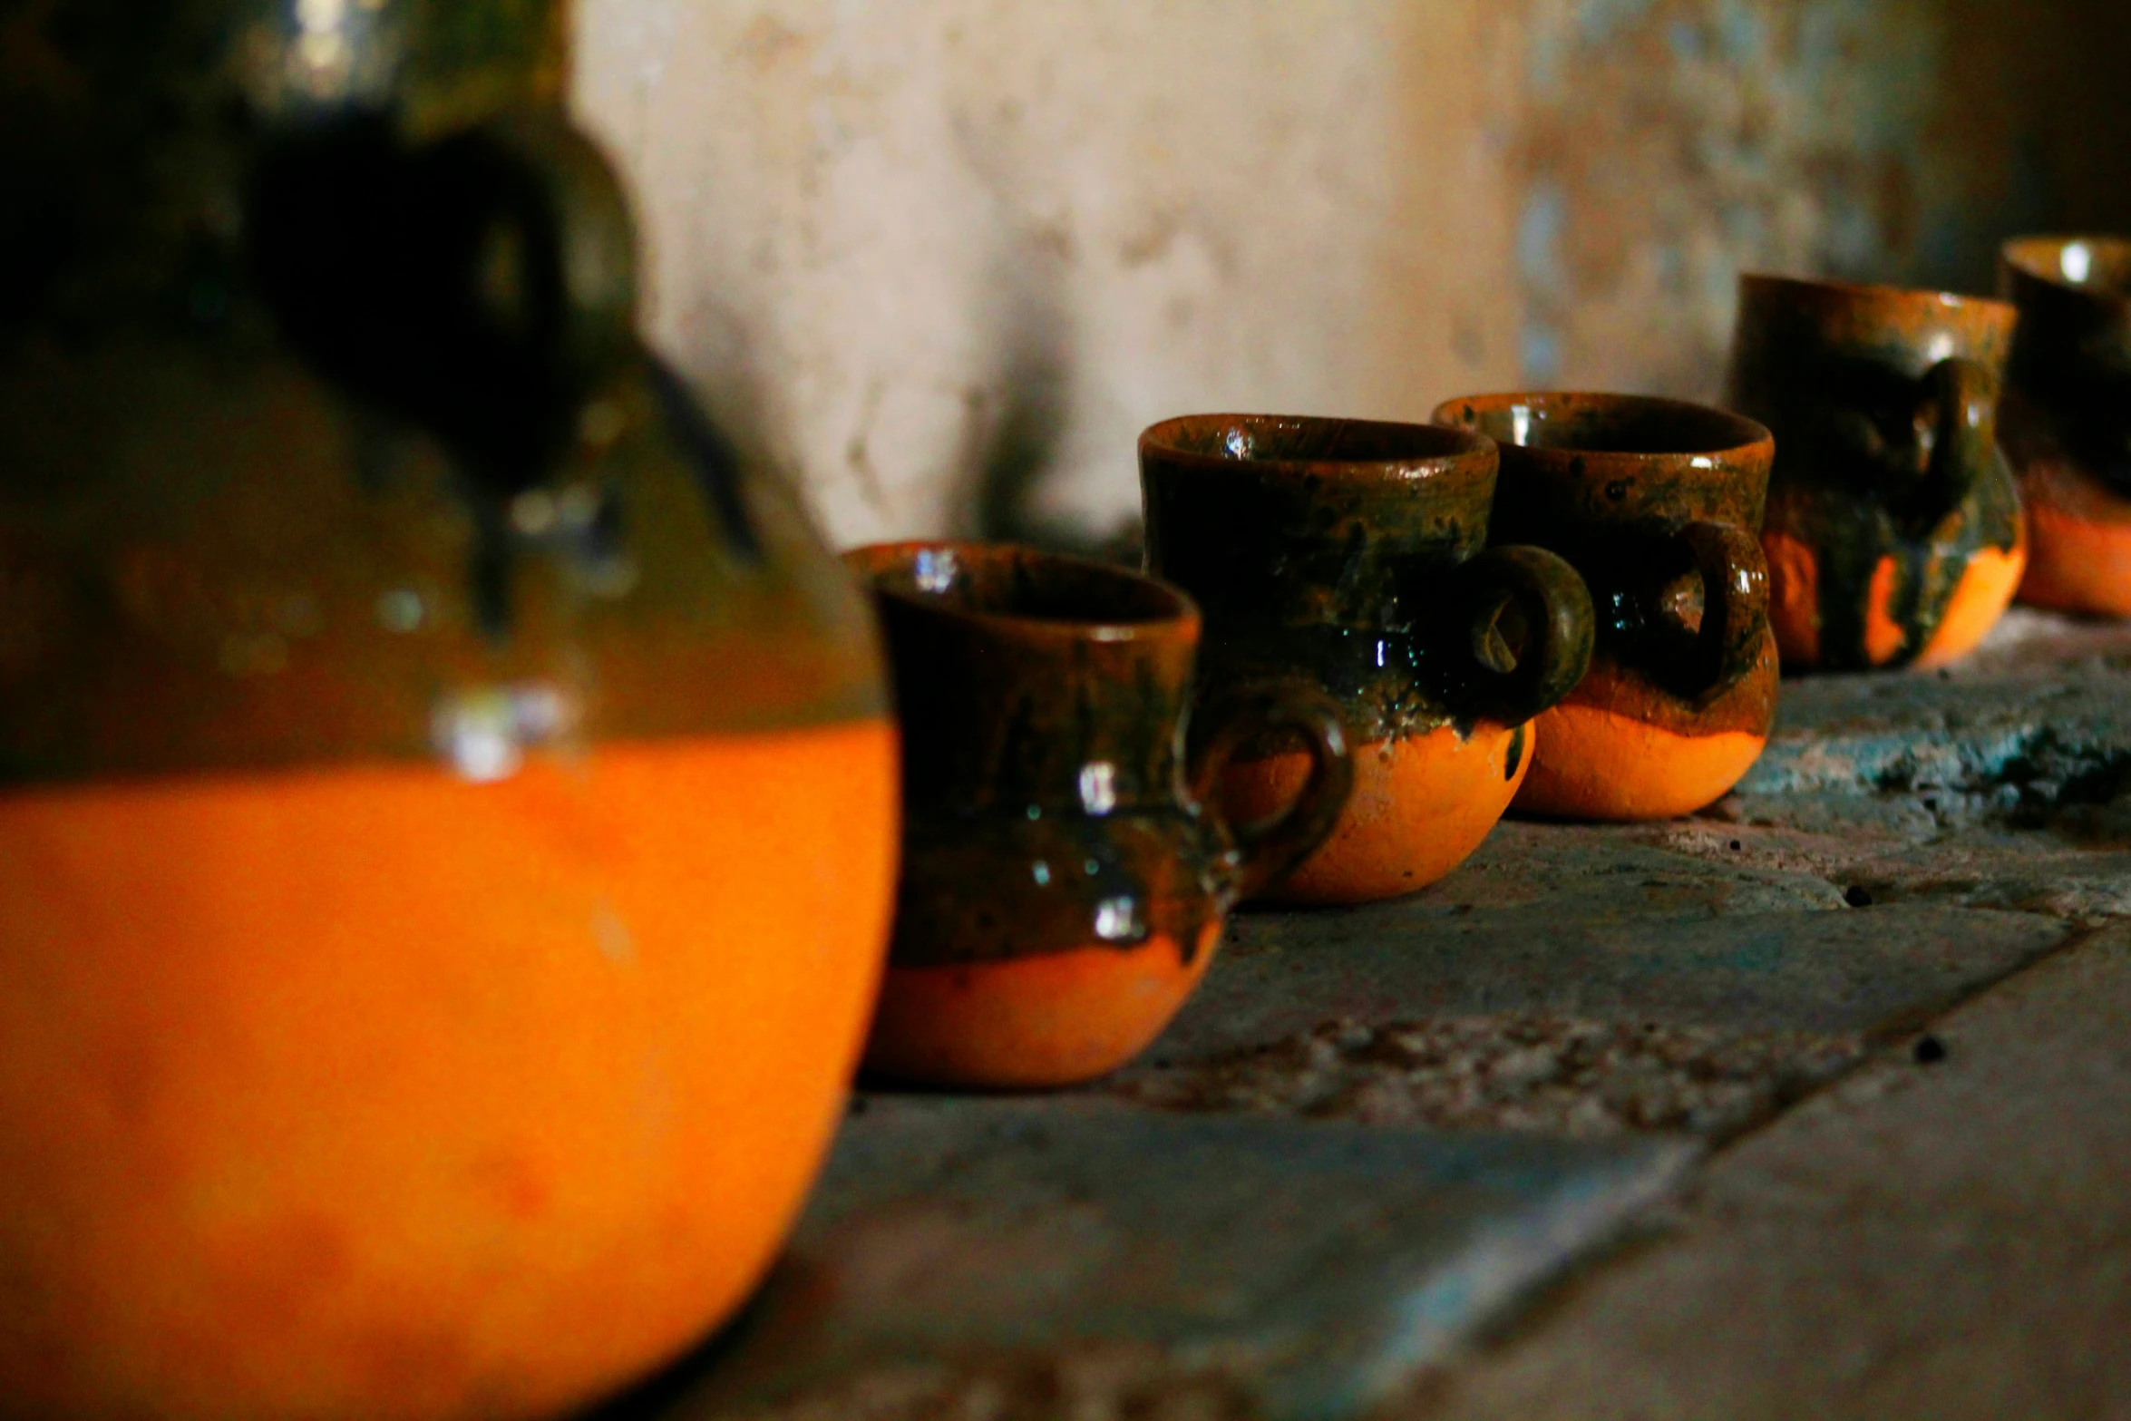
<path id="1" fill-rule="evenodd" d="M 891 961 L 997 961 L 1202 929 L 1330 833 L 1351 767 L 1300 692 L 1206 712 L 1185 758 L 1198 609 L 1151 577 L 1010 545 L 893 543 L 874 584 L 904 724 L 904 876 Z M 1270 824 L 1206 788 L 1240 739 L 1300 733 L 1317 769 Z"/>

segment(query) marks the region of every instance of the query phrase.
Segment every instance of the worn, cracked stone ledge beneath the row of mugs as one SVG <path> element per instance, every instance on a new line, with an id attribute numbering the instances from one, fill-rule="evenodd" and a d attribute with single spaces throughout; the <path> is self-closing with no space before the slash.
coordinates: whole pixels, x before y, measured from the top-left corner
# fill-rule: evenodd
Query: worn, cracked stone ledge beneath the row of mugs
<path id="1" fill-rule="evenodd" d="M 2039 1178 L 2022 1150 L 2080 1148 L 2086 1125 L 2052 1123 L 2033 1084 L 2054 1080 L 2048 1048 L 2018 1031 L 2114 1010 L 2035 984 L 2078 978 L 2067 963 L 2097 946 L 2067 944 L 2131 905 L 2118 767 L 2131 628 L 2014 614 L 1946 675 L 1786 684 L 1769 756 L 1703 816 L 1507 822 L 1409 899 L 1240 914 L 1202 993 L 1110 1082 L 863 1097 L 748 1319 L 607 1415 L 1351 1417 L 1413 1372 L 1430 1387 L 1387 1415 L 1594 1415 L 1615 1366 L 1641 1368 L 1620 1415 L 1711 1415 L 1733 1387 L 1767 1402 L 1741 1415 L 1788 1415 L 1752 1391 L 1756 1327 L 1803 1349 L 1786 1366 L 1822 1378 L 1813 1395 L 1852 1395 L 1822 1366 L 1841 1359 L 1841 1329 L 1816 1329 L 1811 1310 L 1824 1289 L 1843 1306 L 1907 1297 L 1901 1251 L 1935 1257 L 1933 1210 L 1965 1219 L 1961 1189 L 1926 1191 L 1875 1240 L 1871 1210 L 1786 1214 L 1784 1180 L 1820 1178 L 1820 1148 L 1837 1150 L 1831 1170 L 1952 1150 L 1937 1159 L 1997 1178 L 1978 1195 L 1995 1199 Z M 1971 1033 L 2001 1001 L 2027 1003 L 2024 1025 Z M 2080 1031 L 2095 1057 L 2101 1038 Z M 2020 1104 L 1969 1091 L 1914 1118 L 1871 1104 L 1931 1097 L 1931 1063 L 1984 1040 L 2024 1063 Z M 2116 1097 L 2082 1099 L 2093 1114 Z M 1973 1148 L 1954 1142 L 1963 1108 L 1984 1131 Z M 1837 1116 L 1850 1123 L 1826 1125 Z M 2091 1216 L 2114 1221 L 2099 1176 L 2080 1178 Z M 1517 1323 L 1536 1285 L 1652 1227 Z M 1946 1257 L 2041 1287 L 2007 1248 Z M 1854 1295 L 1852 1255 L 1850 1280 L 1871 1274 Z M 1686 1261 L 1647 1261 L 1666 1257 Z M 2131 1325 L 2095 1291 L 2105 1270 L 2071 1242 L 2061 1263 Z M 1997 1317 L 2020 1317 L 2022 1300 L 1990 1287 Z M 1598 1297 L 1613 1302 L 1579 1302 Z M 1790 1312 L 1756 1312 L 1773 1300 Z M 1988 1340 L 1973 1308 L 1903 1306 Z M 1626 1321 L 1600 1325 L 1613 1312 Z M 1943 1340 L 1854 1325 L 1880 1349 L 1860 1366 L 1886 1376 L 1918 1374 L 1903 1349 Z M 1526 1340 L 1464 1351 L 1500 1327 Z M 2061 1351 L 1978 1355 L 2054 1366 Z M 1696 1381 L 1675 1387 L 1675 1370 Z M 2084 1393 L 2033 1393 L 2048 1395 Z"/>

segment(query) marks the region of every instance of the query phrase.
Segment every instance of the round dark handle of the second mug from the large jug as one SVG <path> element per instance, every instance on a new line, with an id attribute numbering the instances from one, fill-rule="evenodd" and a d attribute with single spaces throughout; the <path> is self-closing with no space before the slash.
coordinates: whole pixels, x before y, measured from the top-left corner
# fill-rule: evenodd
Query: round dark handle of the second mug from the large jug
<path id="1" fill-rule="evenodd" d="M 1470 637 L 1481 714 L 1524 724 L 1583 680 L 1596 618 L 1590 588 L 1566 558 L 1522 543 L 1490 548 L 1458 569 L 1458 594 L 1455 624 Z M 1524 624 L 1522 652 L 1502 637 L 1511 609 Z"/>

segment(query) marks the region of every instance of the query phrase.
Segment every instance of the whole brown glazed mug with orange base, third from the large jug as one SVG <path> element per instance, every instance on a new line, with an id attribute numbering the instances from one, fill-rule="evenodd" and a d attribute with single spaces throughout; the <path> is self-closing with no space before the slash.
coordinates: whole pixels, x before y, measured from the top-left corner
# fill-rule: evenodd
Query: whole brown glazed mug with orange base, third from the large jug
<path id="1" fill-rule="evenodd" d="M 1436 422 L 1500 445 L 1494 539 L 1568 558 L 1598 609 L 1590 673 L 1539 718 L 1515 807 L 1645 820 L 1724 795 L 1775 716 L 1754 541 L 1769 430 L 1634 394 L 1483 394 Z"/>

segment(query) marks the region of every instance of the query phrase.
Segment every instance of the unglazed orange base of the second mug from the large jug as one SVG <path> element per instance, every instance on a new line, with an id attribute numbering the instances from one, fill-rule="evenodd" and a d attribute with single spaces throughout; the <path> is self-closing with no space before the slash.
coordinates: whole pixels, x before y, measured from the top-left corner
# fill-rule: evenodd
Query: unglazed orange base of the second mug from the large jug
<path id="1" fill-rule="evenodd" d="M 1424 888 L 1487 837 L 1532 767 L 1539 720 L 1470 733 L 1441 726 L 1426 735 L 1360 746 L 1353 797 L 1323 846 L 1274 884 L 1281 903 L 1366 903 Z M 1294 799 L 1308 775 L 1302 754 L 1232 761 L 1221 775 L 1221 805 L 1238 820 L 1270 814 Z"/>

